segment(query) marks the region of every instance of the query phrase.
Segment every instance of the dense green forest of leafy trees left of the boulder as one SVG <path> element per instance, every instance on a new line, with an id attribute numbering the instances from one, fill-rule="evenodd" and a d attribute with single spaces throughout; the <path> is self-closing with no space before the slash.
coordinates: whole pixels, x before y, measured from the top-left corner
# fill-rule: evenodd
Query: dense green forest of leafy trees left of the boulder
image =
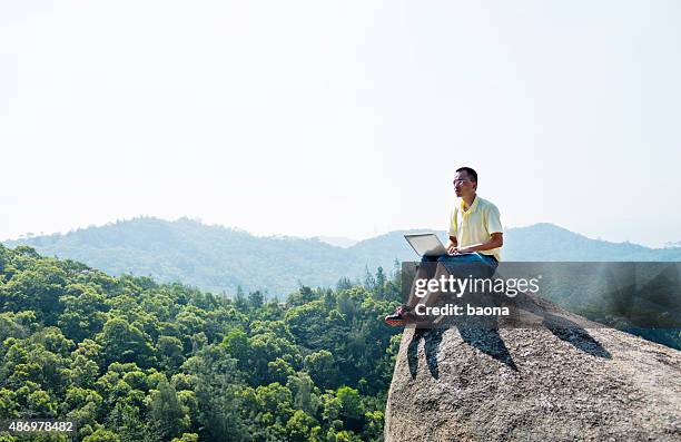
<path id="1" fill-rule="evenodd" d="M 0 245 L 0 419 L 76 420 L 86 442 L 379 441 L 397 281 L 229 299 Z"/>

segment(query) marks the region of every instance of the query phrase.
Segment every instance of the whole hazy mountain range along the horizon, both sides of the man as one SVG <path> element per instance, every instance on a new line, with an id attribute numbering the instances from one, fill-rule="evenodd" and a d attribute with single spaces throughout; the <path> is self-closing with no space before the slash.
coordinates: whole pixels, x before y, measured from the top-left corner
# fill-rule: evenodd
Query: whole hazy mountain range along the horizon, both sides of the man
<path id="1" fill-rule="evenodd" d="M 43 255 L 77 259 L 112 275 L 148 275 L 230 295 L 240 285 L 246 291 L 266 289 L 269 295 L 282 296 L 295 291 L 299 282 L 334 286 L 343 276 L 364 279 L 367 267 L 382 266 L 388 272 L 395 259 L 414 259 L 416 255 L 404 240 L 404 233 L 393 232 L 343 248 L 318 239 L 257 237 L 187 218 L 136 218 L 6 244 L 29 245 Z M 438 233 L 444 238 L 445 233 Z M 551 224 L 536 224 L 505 233 L 503 258 L 681 261 L 681 248 L 609 243 Z"/>

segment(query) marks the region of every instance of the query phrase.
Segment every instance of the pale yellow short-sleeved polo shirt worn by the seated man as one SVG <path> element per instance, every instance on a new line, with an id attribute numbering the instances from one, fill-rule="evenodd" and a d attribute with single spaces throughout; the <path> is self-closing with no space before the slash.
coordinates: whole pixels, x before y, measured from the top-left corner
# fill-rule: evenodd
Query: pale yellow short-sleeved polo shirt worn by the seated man
<path id="1" fill-rule="evenodd" d="M 456 237 L 458 247 L 486 243 L 491 234 L 504 232 L 499 209 L 488 200 L 476 195 L 467 210 L 464 210 L 463 206 L 464 202 L 461 199 L 458 205 L 454 206 L 450 222 L 450 236 Z M 501 247 L 478 253 L 494 255 L 496 261 L 501 261 Z"/>

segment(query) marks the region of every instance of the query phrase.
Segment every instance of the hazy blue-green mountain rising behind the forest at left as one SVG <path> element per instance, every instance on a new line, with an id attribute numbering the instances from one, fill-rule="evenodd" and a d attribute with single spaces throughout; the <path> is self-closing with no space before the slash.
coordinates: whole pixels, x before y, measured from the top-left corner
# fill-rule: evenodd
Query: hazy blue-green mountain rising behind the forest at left
<path id="1" fill-rule="evenodd" d="M 338 275 L 358 275 L 364 268 L 343 248 L 318 239 L 257 237 L 188 218 L 135 218 L 6 243 L 10 247 L 19 244 L 115 275 L 148 275 L 227 294 L 240 285 L 246 291 L 261 288 L 284 295 L 298 282 L 330 285 Z"/>

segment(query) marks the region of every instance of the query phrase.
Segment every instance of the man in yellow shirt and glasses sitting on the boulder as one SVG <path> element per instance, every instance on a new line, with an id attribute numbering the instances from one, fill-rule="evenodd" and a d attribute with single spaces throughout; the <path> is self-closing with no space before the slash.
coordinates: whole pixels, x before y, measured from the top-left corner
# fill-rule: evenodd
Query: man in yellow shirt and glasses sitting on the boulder
<path id="1" fill-rule="evenodd" d="M 446 273 L 465 277 L 467 275 L 457 274 L 464 267 L 467 273 L 472 265 L 480 272 L 476 276 L 492 277 L 499 265 L 501 247 L 504 244 L 499 209 L 494 204 L 477 196 L 477 173 L 472 168 L 456 169 L 453 184 L 454 191 L 461 199 L 458 205 L 454 206 L 450 219 L 450 239 L 445 245 L 447 254 L 436 257 L 424 256 L 414 283 L 417 279 L 440 278 L 440 275 Z M 433 264 L 427 263 L 436 263 L 436 267 L 433 268 Z M 432 304 L 437 295 L 438 293 L 428 294 L 424 298 Z M 407 303 L 387 315 L 386 324 L 396 326 L 404 325 L 407 321 L 416 321 L 414 307 L 418 301 L 413 286 Z"/>

